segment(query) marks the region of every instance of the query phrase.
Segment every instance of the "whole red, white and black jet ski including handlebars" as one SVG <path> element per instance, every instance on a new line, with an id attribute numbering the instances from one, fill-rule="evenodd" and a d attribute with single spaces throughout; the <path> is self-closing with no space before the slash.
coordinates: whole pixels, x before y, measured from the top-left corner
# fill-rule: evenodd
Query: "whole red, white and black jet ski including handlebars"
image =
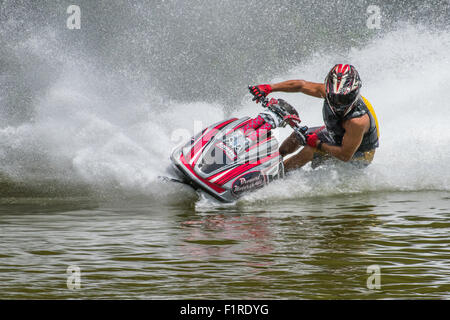
<path id="1" fill-rule="evenodd" d="M 170 159 L 176 177 L 166 181 L 188 184 L 221 202 L 234 202 L 247 192 L 283 178 L 283 158 L 272 131 L 289 126 L 305 145 L 308 128 L 300 125 L 298 112 L 286 101 L 260 102 L 264 110 L 257 118 L 220 121 L 175 148 Z M 255 125 L 258 121 L 265 124 L 263 128 L 257 127 L 260 123 Z"/>

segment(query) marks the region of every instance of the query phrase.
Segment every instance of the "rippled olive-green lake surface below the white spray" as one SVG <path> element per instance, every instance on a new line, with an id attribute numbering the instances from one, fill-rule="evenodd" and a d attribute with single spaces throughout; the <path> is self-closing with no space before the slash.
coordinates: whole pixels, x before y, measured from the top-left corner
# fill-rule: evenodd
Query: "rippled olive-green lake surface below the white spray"
<path id="1" fill-rule="evenodd" d="M 448 192 L 198 203 L 3 198 L 0 298 L 450 297 Z"/>

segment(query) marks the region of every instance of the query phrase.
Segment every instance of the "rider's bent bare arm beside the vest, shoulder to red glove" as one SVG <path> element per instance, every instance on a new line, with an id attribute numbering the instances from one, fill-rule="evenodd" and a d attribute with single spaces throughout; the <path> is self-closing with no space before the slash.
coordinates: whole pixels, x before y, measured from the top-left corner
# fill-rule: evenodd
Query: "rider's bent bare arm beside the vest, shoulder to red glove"
<path id="1" fill-rule="evenodd" d="M 345 129 L 341 146 L 322 143 L 321 150 L 342 161 L 350 161 L 361 145 L 364 133 L 369 129 L 370 120 L 367 115 L 347 120 L 342 125 Z"/>

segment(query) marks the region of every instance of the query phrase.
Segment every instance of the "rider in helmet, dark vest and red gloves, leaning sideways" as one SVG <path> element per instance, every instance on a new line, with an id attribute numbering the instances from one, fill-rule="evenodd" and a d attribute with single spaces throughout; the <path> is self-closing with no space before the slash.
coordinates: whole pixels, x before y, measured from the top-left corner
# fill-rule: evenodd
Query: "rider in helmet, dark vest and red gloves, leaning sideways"
<path id="1" fill-rule="evenodd" d="M 250 86 L 253 100 L 260 100 L 271 92 L 302 92 L 322 98 L 322 127 L 309 128 L 305 147 L 284 161 L 286 171 L 300 168 L 312 161 L 315 168 L 325 160 L 339 159 L 367 166 L 378 147 L 379 129 L 370 102 L 360 95 L 361 79 L 355 67 L 337 64 L 328 73 L 324 83 L 288 80 L 276 84 Z M 296 133 L 292 133 L 280 147 L 285 157 L 300 148 Z"/>

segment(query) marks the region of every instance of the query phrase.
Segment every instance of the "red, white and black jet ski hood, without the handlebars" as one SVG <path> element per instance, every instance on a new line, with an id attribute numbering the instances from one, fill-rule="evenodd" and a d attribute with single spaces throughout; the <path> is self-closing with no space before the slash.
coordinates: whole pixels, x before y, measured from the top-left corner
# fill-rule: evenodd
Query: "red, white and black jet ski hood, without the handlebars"
<path id="1" fill-rule="evenodd" d="M 171 160 L 182 178 L 221 201 L 231 202 L 282 175 L 278 142 L 271 132 L 249 145 L 239 130 L 250 120 L 231 118 L 215 123 L 176 148 Z"/>

